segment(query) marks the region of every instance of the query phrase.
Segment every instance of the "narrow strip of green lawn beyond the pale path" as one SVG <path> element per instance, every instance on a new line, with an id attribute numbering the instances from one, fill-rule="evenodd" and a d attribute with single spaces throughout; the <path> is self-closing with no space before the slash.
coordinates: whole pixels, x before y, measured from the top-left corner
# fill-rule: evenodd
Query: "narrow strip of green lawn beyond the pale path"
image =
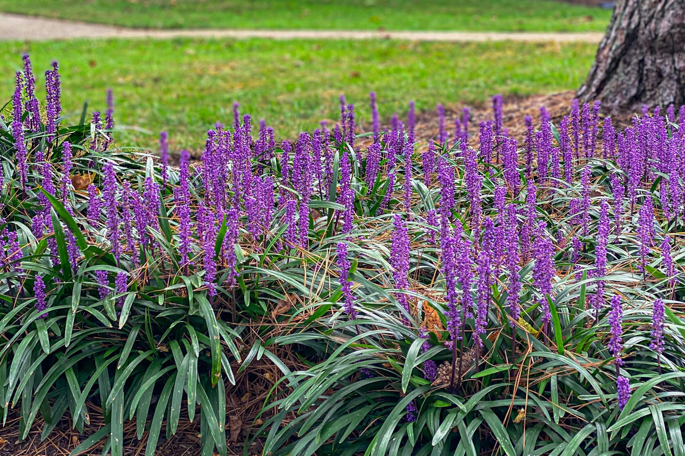
<path id="1" fill-rule="evenodd" d="M 553 0 L 0 0 L 0 10 L 129 27 L 603 31 L 610 10 Z"/>

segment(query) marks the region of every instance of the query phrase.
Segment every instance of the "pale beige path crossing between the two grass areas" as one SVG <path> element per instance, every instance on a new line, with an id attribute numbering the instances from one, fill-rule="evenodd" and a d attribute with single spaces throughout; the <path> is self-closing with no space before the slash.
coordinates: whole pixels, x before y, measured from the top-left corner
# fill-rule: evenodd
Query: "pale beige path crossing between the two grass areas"
<path id="1" fill-rule="evenodd" d="M 64 40 L 67 38 L 271 38 L 275 40 L 370 40 L 388 38 L 416 41 L 557 41 L 599 43 L 603 33 L 532 33 L 471 31 L 356 31 L 356 30 L 212 30 L 128 29 L 112 25 L 0 13 L 0 40 Z"/>

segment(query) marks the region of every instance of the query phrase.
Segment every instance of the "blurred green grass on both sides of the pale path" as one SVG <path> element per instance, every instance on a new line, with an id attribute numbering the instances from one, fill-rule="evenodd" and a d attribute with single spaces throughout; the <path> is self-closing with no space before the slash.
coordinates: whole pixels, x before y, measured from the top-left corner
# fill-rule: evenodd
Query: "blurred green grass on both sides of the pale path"
<path id="1" fill-rule="evenodd" d="M 332 29 L 601 30 L 609 10 L 547 0 L 0 0 L 0 11 L 136 27 Z M 60 62 L 64 115 L 104 110 L 114 90 L 120 145 L 203 148 L 214 122 L 230 122 L 234 101 L 277 137 L 336 120 L 338 96 L 369 122 L 375 90 L 382 119 L 438 103 L 461 107 L 490 95 L 528 96 L 577 88 L 595 44 L 408 42 L 394 40 L 54 40 L 0 42 L 0 94 L 12 96 L 21 54 L 44 84 Z M 43 89 L 44 90 L 44 89 Z"/>

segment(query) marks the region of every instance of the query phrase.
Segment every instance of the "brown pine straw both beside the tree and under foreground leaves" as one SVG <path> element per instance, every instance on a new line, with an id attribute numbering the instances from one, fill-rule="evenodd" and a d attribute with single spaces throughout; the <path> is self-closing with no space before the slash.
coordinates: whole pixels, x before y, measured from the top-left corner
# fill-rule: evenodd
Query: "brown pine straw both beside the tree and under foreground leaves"
<path id="1" fill-rule="evenodd" d="M 525 137 L 525 123 L 524 116 L 532 116 L 539 122 L 540 107 L 545 106 L 555 124 L 559 120 L 570 113 L 571 100 L 573 99 L 573 92 L 560 92 L 551 95 L 532 96 L 530 98 L 510 98 L 505 99 L 503 107 L 503 124 L 509 129 L 509 134 L 515 137 L 519 145 L 523 144 Z M 448 131 L 453 130 L 454 119 L 461 116 L 461 106 L 445 107 L 446 128 Z M 480 122 L 490 120 L 492 118 L 492 109 L 487 105 L 475 106 L 471 109 L 471 125 L 469 126 L 471 137 L 471 144 L 477 144 L 478 140 L 478 125 Z M 614 122 L 614 126 L 627 126 L 628 118 L 618 119 Z M 369 125 L 364 125 L 364 129 L 368 129 Z M 416 120 L 416 141 L 419 142 L 419 150 L 425 148 L 427 143 L 438 137 L 438 116 L 434 112 L 423 112 L 417 115 Z M 366 130 L 365 130 L 366 131 Z M 363 146 L 362 146 L 363 147 Z M 271 323 L 275 327 L 274 333 L 287 331 L 284 326 L 279 326 L 276 323 L 278 313 L 281 313 L 279 306 L 275 308 L 271 314 L 271 322 L 251 323 L 249 331 L 250 336 L 246 338 L 244 347 L 251 346 L 250 338 L 256 338 L 256 328 L 264 323 Z M 302 318 L 308 317 L 303 315 Z M 266 317 L 265 317 L 266 318 Z M 275 336 L 276 334 L 268 334 L 266 337 Z M 286 365 L 290 368 L 297 368 L 299 363 L 297 358 L 292 356 L 286 349 L 279 349 L 282 352 L 277 353 Z M 269 392 L 273 384 L 279 379 L 280 371 L 269 364 L 268 360 L 262 358 L 262 363 L 253 363 L 251 368 L 236 375 L 236 386 L 227 385 L 227 399 L 226 399 L 226 415 L 227 415 L 227 438 L 229 439 L 229 454 L 242 455 L 242 442 L 244 442 L 245 434 L 252 428 L 253 425 L 259 427 L 260 422 L 253 423 L 254 417 L 258 414 L 262 407 L 266 394 Z M 7 456 L 68 456 L 69 453 L 83 442 L 88 435 L 91 435 L 103 425 L 101 408 L 95 403 L 88 403 L 88 411 L 90 413 L 90 425 L 88 425 L 83 433 L 79 433 L 75 429 L 71 429 L 69 419 L 63 418 L 58 426 L 53 429 L 52 433 L 44 441 L 40 441 L 41 429 L 43 422 L 40 418 L 36 418 L 33 429 L 30 431 L 27 440 L 18 442 L 18 409 L 10 412 L 8 422 L 5 427 L 0 427 L 0 454 Z M 199 415 L 196 414 L 196 417 Z M 268 415 L 267 415 L 268 416 Z M 158 444 L 158 451 L 155 452 L 159 456 L 198 456 L 200 454 L 199 445 L 199 418 L 196 418 L 193 423 L 188 420 L 187 404 L 184 403 L 184 410 L 182 410 L 181 420 L 179 421 L 178 431 L 172 435 L 169 440 L 164 440 L 165 434 L 162 426 L 162 435 L 160 435 L 160 443 Z M 142 441 L 136 439 L 136 424 L 134 421 L 126 421 L 124 426 L 124 454 L 138 456 L 145 454 L 145 436 Z M 91 449 L 84 455 L 100 455 L 102 451 L 103 442 Z M 261 454 L 261 446 L 256 442 L 251 446 L 251 455 Z"/>

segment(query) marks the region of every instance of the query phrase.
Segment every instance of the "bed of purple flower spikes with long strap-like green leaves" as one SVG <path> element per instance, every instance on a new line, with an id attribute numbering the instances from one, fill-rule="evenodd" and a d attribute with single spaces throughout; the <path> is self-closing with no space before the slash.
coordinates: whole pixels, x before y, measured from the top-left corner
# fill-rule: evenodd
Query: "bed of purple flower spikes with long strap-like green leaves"
<path id="1" fill-rule="evenodd" d="M 191 162 L 166 133 L 117 147 L 111 92 L 67 125 L 58 64 L 45 102 L 23 68 L 0 121 L 20 439 L 66 418 L 92 430 L 73 455 L 153 456 L 187 421 L 202 455 L 684 454 L 685 107 L 541 107 L 517 141 L 494 96 L 479 125 L 438 106 L 421 144 L 373 93 L 371 131 L 340 96 L 294 141 L 236 103 Z"/>

